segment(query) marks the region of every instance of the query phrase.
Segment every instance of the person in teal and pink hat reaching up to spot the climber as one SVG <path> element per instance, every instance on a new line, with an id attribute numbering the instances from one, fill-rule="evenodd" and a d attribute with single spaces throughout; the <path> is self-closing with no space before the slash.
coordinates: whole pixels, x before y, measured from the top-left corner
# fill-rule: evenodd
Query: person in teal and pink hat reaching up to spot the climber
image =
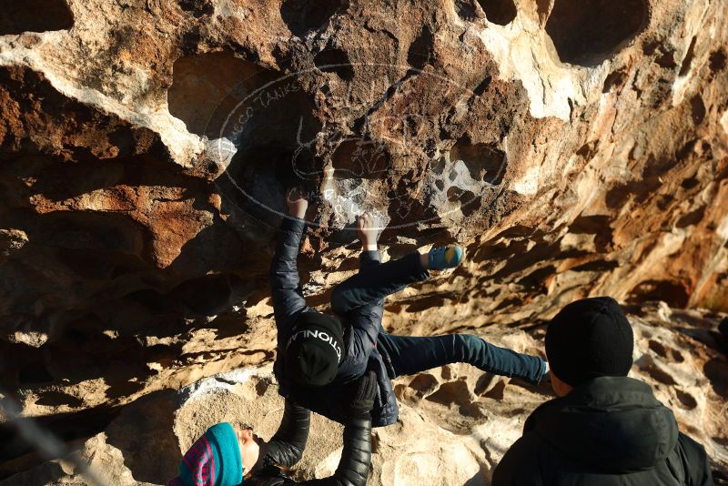
<path id="1" fill-rule="evenodd" d="M 374 373 L 347 388 L 348 419 L 344 424 L 344 450 L 333 476 L 299 484 L 364 486 L 371 461 L 371 415 L 377 392 Z M 179 464 L 179 476 L 167 486 L 284 486 L 297 484 L 281 471 L 301 459 L 308 440 L 310 412 L 286 400 L 283 419 L 273 438 L 265 442 L 250 428 L 217 423 L 189 448 Z"/>

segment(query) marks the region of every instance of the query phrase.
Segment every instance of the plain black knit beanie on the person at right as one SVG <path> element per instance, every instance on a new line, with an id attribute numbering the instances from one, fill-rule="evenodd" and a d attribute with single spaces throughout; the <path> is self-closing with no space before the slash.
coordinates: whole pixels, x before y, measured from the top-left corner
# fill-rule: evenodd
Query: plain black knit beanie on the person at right
<path id="1" fill-rule="evenodd" d="M 571 302 L 546 330 L 549 367 L 571 386 L 602 376 L 627 376 L 633 348 L 630 321 L 610 297 Z"/>

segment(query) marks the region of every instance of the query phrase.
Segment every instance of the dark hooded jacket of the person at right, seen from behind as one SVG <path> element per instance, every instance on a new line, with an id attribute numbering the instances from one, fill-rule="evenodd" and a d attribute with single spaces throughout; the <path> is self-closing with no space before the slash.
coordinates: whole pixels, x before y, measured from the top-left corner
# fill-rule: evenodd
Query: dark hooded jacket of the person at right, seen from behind
<path id="1" fill-rule="evenodd" d="M 492 486 L 708 486 L 703 447 L 640 380 L 604 377 L 526 420 Z"/>

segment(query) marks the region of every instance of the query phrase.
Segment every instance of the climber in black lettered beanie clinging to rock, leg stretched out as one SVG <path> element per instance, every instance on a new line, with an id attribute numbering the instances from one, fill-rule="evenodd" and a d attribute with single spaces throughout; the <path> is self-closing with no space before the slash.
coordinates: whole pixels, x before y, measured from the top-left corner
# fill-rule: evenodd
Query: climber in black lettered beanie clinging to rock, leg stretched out
<path id="1" fill-rule="evenodd" d="M 360 269 L 336 289 L 331 307 L 337 316 L 306 305 L 296 258 L 305 228 L 308 201 L 298 189 L 288 192 L 276 254 L 271 265 L 273 309 L 278 327 L 278 356 L 274 371 L 284 397 L 331 420 L 346 423 L 339 389 L 366 370 L 377 375 L 379 392 L 372 425 L 394 423 L 399 415 L 391 380 L 448 363 L 470 363 L 480 370 L 538 383 L 546 362 L 536 356 L 490 345 L 469 334 L 430 338 L 391 336 L 381 327 L 384 299 L 411 283 L 425 280 L 430 269 L 460 264 L 462 248 L 433 248 L 380 263 L 374 219 L 359 217 L 362 244 Z"/>

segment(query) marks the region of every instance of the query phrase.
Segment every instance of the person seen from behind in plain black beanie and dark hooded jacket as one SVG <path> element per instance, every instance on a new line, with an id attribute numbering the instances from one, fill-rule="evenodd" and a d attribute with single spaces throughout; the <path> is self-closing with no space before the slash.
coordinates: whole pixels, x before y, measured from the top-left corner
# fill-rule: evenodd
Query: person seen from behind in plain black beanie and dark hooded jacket
<path id="1" fill-rule="evenodd" d="M 703 447 L 678 431 L 648 384 L 627 377 L 632 348 L 632 326 L 614 299 L 561 309 L 546 331 L 558 398 L 531 413 L 492 486 L 712 485 Z"/>

